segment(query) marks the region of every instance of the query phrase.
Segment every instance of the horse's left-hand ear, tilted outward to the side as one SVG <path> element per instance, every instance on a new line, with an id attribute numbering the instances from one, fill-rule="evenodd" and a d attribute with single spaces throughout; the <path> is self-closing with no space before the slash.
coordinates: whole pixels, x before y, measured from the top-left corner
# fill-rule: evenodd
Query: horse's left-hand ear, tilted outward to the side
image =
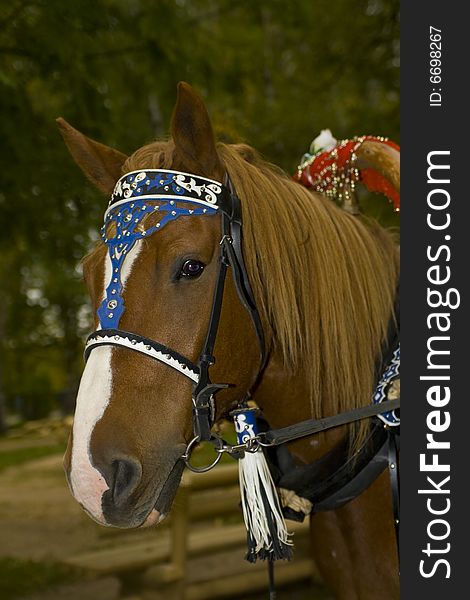
<path id="1" fill-rule="evenodd" d="M 121 167 L 127 156 L 86 137 L 62 117 L 56 121 L 65 144 L 80 169 L 102 192 L 111 194 L 122 175 Z"/>

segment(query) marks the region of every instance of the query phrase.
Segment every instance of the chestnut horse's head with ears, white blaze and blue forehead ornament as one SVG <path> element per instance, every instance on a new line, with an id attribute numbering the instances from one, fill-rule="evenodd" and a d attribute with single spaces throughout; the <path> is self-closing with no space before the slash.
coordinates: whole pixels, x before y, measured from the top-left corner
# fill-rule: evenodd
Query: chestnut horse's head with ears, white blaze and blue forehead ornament
<path id="1" fill-rule="evenodd" d="M 182 356 L 182 362 L 197 364 L 218 281 L 221 220 L 208 206 L 211 198 L 205 204 L 141 202 L 138 211 L 126 200 L 140 189 L 136 186 L 150 183 L 148 172 L 153 176 L 159 169 L 165 176 L 176 172 L 183 186 L 197 185 L 185 175 L 191 174 L 220 188 L 225 168 L 202 100 L 189 85 L 179 84 L 172 140 L 149 144 L 131 157 L 58 121 L 85 175 L 104 193 L 114 190 L 120 198 L 107 213 L 107 243 L 83 262 L 98 336 L 118 324 L 139 344 L 158 340 L 172 349 L 172 359 Z M 126 240 L 127 227 L 132 244 Z M 145 235 L 149 232 L 158 233 Z M 136 343 L 131 338 L 126 339 Z M 229 384 L 217 395 L 218 418 L 246 394 L 260 367 L 255 328 L 232 277 L 225 282 L 213 355 L 212 380 Z M 74 497 L 97 522 L 136 527 L 168 513 L 184 467 L 181 456 L 193 437 L 194 381 L 181 372 L 185 367 L 171 368 L 123 344 L 98 345 L 89 353 L 64 464 Z"/>

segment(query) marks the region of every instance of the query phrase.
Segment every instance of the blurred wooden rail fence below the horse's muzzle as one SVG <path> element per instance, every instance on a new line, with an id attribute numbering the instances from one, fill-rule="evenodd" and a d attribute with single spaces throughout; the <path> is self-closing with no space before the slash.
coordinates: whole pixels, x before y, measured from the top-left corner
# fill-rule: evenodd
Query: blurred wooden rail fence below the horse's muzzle
<path id="1" fill-rule="evenodd" d="M 244 560 L 246 530 L 239 504 L 236 464 L 202 474 L 185 472 L 171 518 L 166 527 L 157 528 L 154 539 L 100 547 L 66 562 L 100 575 L 116 574 L 125 587 L 131 582 L 127 588 L 152 589 L 152 598 L 159 591 L 165 599 L 209 600 L 235 590 L 238 596 L 260 590 L 266 587 L 267 569 L 263 562 Z M 316 575 L 308 553 L 308 523 L 288 526 L 294 533 L 295 558 L 276 565 L 279 585 Z M 112 537 L 107 537 L 108 544 Z"/>

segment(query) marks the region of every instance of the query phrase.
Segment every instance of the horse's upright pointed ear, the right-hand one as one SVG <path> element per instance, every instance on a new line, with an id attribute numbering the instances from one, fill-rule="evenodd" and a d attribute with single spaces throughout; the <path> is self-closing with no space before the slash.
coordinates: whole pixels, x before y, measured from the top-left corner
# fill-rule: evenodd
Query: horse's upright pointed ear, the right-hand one
<path id="1" fill-rule="evenodd" d="M 223 177 L 207 109 L 199 94 L 184 81 L 178 84 L 171 134 L 175 143 L 175 167 L 215 179 Z"/>

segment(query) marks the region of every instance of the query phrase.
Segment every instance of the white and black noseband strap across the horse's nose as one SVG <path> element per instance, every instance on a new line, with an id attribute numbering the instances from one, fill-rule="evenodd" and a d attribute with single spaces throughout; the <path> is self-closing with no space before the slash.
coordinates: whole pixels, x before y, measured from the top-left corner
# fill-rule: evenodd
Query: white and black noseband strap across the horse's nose
<path id="1" fill-rule="evenodd" d="M 163 344 L 149 340 L 135 333 L 127 333 L 115 329 L 98 329 L 92 333 L 85 344 L 85 360 L 88 358 L 93 348 L 98 346 L 122 346 L 135 350 L 141 354 L 146 354 L 161 363 L 172 367 L 176 371 L 185 375 L 194 383 L 199 381 L 199 369 L 175 350 L 167 348 Z"/>

